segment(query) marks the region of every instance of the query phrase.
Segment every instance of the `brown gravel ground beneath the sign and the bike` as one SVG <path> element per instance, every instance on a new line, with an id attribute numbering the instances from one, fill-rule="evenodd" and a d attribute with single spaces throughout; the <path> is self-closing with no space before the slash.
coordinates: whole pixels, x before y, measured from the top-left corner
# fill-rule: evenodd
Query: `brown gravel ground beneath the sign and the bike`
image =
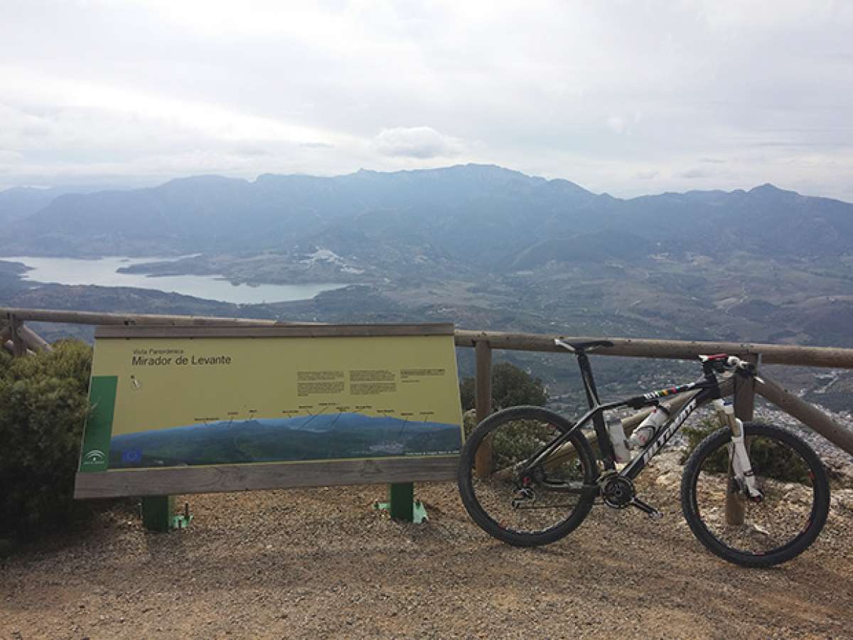
<path id="1" fill-rule="evenodd" d="M 422 525 L 372 509 L 383 486 L 192 496 L 170 534 L 114 509 L 0 565 L 0 637 L 853 637 L 853 501 L 744 569 L 693 538 L 667 468 L 639 483 L 663 520 L 597 506 L 539 549 L 487 536 L 450 483 L 416 486 Z"/>

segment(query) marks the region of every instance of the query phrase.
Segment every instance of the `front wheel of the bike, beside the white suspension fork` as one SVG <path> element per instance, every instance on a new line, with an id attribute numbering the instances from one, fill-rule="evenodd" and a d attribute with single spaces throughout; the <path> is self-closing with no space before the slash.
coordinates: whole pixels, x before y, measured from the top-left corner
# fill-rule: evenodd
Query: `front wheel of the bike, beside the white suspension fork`
<path id="1" fill-rule="evenodd" d="M 744 436 L 761 502 L 729 479 L 732 434 L 722 428 L 688 458 L 682 509 L 690 529 L 717 556 L 745 567 L 791 560 L 827 521 L 829 481 L 815 451 L 784 429 L 746 422 Z"/>

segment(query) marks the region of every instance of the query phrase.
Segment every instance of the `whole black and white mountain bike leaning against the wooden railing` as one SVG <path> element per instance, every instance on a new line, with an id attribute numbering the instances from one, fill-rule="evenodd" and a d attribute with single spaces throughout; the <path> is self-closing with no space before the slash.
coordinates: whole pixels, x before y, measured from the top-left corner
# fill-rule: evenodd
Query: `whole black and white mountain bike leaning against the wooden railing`
<path id="1" fill-rule="evenodd" d="M 720 428 L 696 446 L 682 474 L 682 511 L 693 534 L 717 556 L 746 567 L 791 560 L 814 542 L 829 510 L 820 458 L 785 429 L 740 422 L 721 398 L 718 375 L 757 377 L 753 364 L 725 353 L 699 356 L 697 381 L 601 403 L 587 354 L 612 342 L 554 342 L 577 357 L 589 410 L 570 422 L 543 407 L 518 406 L 479 423 L 462 446 L 458 472 L 462 503 L 479 527 L 508 544 L 549 544 L 580 525 L 599 498 L 612 509 L 660 517 L 637 497 L 634 480 L 693 410 L 711 402 Z M 661 399 L 681 394 L 689 394 L 681 396 L 686 402 L 668 415 Z M 618 464 L 624 431 L 618 419 L 606 422 L 606 412 L 647 407 L 664 415 L 641 427 L 659 427 Z"/>

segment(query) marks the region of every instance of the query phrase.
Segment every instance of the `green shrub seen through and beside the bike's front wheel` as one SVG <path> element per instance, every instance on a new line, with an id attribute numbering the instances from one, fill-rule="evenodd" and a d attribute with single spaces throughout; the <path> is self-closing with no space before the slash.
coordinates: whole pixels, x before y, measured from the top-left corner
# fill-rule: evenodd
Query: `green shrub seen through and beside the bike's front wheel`
<path id="1" fill-rule="evenodd" d="M 697 427 L 682 428 L 682 433 L 688 438 L 688 451 L 682 457 L 682 464 L 693 453 L 693 449 L 718 428 L 720 428 L 719 424 L 713 418 L 700 421 Z M 747 438 L 747 442 L 749 443 L 750 462 L 757 475 L 782 482 L 810 484 L 809 468 L 796 451 L 785 445 L 780 445 L 775 439 Z M 702 468 L 711 473 L 728 473 L 728 449 L 721 447 L 715 451 L 710 458 L 705 460 Z"/>

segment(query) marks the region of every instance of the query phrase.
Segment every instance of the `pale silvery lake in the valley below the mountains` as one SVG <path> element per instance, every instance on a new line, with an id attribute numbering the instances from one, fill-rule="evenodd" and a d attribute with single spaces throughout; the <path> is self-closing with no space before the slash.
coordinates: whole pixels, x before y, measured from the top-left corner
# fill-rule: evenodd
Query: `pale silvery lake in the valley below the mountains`
<path id="1" fill-rule="evenodd" d="M 146 276 L 139 273 L 119 273 L 121 267 L 146 262 L 161 262 L 175 258 L 107 258 L 84 260 L 73 258 L 37 258 L 15 256 L 0 260 L 22 262 L 32 271 L 21 277 L 32 282 L 56 284 L 95 284 L 101 287 L 136 287 L 168 293 L 193 295 L 206 300 L 254 305 L 264 302 L 310 300 L 323 291 L 343 288 L 345 284 L 231 284 L 221 276 Z"/>

